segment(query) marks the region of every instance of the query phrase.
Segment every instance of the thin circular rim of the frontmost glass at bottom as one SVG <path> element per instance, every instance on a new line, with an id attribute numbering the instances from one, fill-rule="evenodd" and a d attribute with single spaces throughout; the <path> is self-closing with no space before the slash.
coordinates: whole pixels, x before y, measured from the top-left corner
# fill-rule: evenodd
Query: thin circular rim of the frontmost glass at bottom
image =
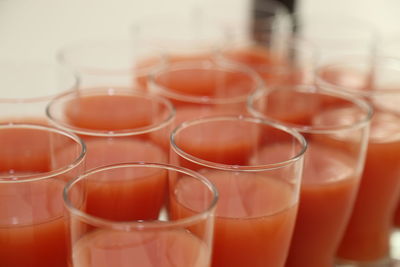
<path id="1" fill-rule="evenodd" d="M 213 197 L 212 200 L 210 201 L 210 204 L 206 209 L 204 209 L 204 211 L 198 212 L 190 217 L 173 221 L 158 221 L 158 220 L 157 221 L 144 221 L 144 220 L 114 221 L 109 219 L 103 219 L 98 216 L 90 215 L 84 211 L 81 211 L 79 208 L 76 208 L 75 205 L 71 202 L 68 193 L 76 183 L 80 182 L 81 180 L 87 177 L 90 177 L 93 174 L 108 170 L 121 169 L 121 168 L 158 168 L 160 170 L 179 172 L 188 175 L 189 177 L 196 179 L 197 181 L 200 181 L 212 193 Z M 79 219 L 83 220 L 85 223 L 96 225 L 97 227 L 107 227 L 123 231 L 147 230 L 147 229 L 156 230 L 156 229 L 176 228 L 176 227 L 185 227 L 193 225 L 196 221 L 200 221 L 212 215 L 212 213 L 216 209 L 218 199 L 219 199 L 219 193 L 216 186 L 202 174 L 187 168 L 174 166 L 171 164 L 150 163 L 150 162 L 127 162 L 127 163 L 117 163 L 117 164 L 97 167 L 68 181 L 63 190 L 64 206 L 71 214 L 79 217 Z"/>

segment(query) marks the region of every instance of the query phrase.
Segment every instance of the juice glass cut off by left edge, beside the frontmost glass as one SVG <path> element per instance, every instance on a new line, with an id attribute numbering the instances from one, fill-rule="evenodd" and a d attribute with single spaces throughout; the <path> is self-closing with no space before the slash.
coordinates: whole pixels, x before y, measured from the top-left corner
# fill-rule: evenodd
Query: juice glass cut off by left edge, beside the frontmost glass
<path id="1" fill-rule="evenodd" d="M 83 173 L 74 134 L 37 124 L 0 125 L 0 265 L 67 267 L 62 190 Z"/>

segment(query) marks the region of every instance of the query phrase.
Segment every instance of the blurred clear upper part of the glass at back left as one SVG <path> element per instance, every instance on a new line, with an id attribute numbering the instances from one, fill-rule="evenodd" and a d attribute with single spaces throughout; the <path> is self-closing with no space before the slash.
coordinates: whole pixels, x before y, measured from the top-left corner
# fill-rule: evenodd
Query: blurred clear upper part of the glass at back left
<path id="1" fill-rule="evenodd" d="M 161 53 L 132 40 L 91 40 L 65 46 L 58 62 L 77 73 L 79 88 L 98 86 L 143 90 L 147 75 L 162 65 Z"/>

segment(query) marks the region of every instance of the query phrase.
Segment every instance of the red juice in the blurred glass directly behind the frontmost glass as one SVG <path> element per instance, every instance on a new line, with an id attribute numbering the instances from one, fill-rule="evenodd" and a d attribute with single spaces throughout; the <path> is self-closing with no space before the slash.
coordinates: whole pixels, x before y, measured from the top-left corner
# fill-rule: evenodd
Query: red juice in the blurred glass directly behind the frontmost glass
<path id="1" fill-rule="evenodd" d="M 116 91 L 118 92 L 118 91 Z M 142 95 L 89 95 L 66 106 L 68 123 L 86 131 L 139 131 L 161 122 L 167 108 Z M 156 113 L 156 114 L 154 114 Z M 87 146 L 88 170 L 117 163 L 167 163 L 167 135 L 161 132 L 131 136 L 81 135 Z M 166 187 L 166 174 L 115 173 L 96 177 L 87 185 L 86 212 L 104 219 L 152 220 L 157 218 Z"/>

